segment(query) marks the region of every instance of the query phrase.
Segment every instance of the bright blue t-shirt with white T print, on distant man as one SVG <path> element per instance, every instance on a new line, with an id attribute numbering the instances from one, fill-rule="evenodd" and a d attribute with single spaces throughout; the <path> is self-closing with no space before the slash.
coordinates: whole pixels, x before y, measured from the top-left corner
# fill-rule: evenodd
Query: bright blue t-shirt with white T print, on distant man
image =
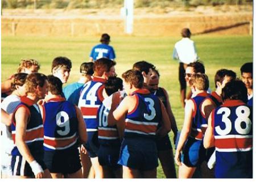
<path id="1" fill-rule="evenodd" d="M 92 52 L 90 53 L 90 57 L 93 58 L 93 61 L 99 58 L 115 58 L 115 52 L 112 46 L 107 44 L 98 44 L 93 47 Z"/>

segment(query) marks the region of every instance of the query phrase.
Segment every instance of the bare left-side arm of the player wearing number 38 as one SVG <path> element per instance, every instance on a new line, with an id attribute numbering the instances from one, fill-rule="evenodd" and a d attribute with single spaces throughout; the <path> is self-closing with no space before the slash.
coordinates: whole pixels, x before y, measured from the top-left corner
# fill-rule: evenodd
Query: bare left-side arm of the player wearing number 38
<path id="1" fill-rule="evenodd" d="M 208 127 L 207 130 L 205 131 L 204 134 L 204 147 L 209 148 L 209 147 L 214 147 L 214 129 L 212 126 L 212 114 L 213 112 L 210 113 L 209 118 L 208 118 Z"/>

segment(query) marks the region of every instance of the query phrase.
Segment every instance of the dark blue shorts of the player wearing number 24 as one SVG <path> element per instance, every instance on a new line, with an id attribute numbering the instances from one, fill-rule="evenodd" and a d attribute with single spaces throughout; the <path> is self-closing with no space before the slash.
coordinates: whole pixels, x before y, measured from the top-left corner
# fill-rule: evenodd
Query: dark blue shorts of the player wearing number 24
<path id="1" fill-rule="evenodd" d="M 100 143 L 98 143 L 98 131 L 87 132 L 87 142 L 84 145 L 88 151 L 90 158 L 95 158 L 98 156 L 98 149 L 100 148 Z"/>

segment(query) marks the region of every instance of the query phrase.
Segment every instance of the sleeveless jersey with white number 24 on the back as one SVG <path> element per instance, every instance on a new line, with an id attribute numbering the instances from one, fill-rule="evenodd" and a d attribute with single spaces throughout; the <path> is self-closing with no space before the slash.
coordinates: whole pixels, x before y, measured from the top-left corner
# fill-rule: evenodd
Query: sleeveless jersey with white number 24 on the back
<path id="1" fill-rule="evenodd" d="M 87 131 L 97 130 L 97 112 L 104 100 L 102 96 L 104 82 L 105 79 L 93 77 L 81 90 L 79 108 L 82 111 Z"/>

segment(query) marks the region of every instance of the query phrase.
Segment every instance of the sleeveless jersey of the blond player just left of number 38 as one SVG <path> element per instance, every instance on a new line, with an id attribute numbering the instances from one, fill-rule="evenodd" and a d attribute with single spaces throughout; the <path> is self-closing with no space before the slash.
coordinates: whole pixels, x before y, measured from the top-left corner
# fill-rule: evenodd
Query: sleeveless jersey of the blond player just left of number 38
<path id="1" fill-rule="evenodd" d="M 192 129 L 189 136 L 197 140 L 203 139 L 202 129 L 207 127 L 207 120 L 201 113 L 201 104 L 207 96 L 209 96 L 207 92 L 202 92 L 191 98 L 195 110 L 193 111 Z"/>

